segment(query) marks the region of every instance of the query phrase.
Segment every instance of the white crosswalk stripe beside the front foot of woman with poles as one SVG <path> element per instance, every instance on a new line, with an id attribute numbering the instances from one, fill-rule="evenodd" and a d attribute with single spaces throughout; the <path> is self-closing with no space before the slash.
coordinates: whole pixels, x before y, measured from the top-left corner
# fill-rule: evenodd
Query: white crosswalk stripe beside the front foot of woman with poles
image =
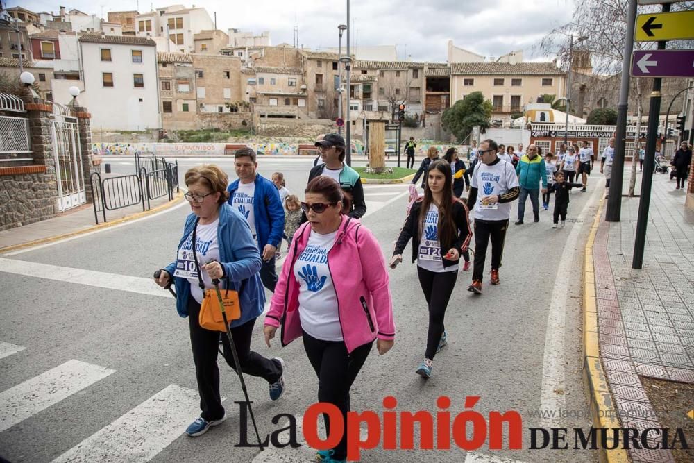
<path id="1" fill-rule="evenodd" d="M 198 414 L 198 393 L 169 385 L 53 463 L 147 462 L 180 437 Z"/>

